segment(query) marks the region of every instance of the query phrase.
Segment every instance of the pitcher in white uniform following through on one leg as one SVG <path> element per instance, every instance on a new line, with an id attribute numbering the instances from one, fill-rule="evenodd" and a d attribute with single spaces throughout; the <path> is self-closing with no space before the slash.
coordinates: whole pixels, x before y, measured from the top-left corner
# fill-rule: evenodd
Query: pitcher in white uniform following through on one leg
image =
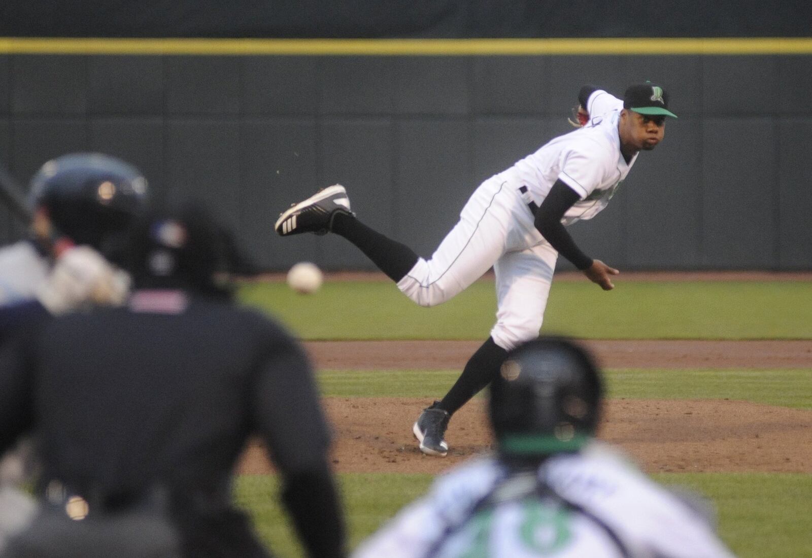
<path id="1" fill-rule="evenodd" d="M 490 384 L 508 350 L 538 336 L 559 254 L 603 290 L 614 288 L 611 276 L 619 272 L 581 251 L 564 225 L 591 219 L 607 206 L 638 153 L 663 140 L 665 118 L 674 114 L 666 92 L 654 84 L 633 85 L 622 100 L 585 86 L 578 99 L 583 127 L 482 182 L 430 260 L 356 219 L 340 185 L 295 204 L 276 221 L 282 236 L 330 231 L 347 238 L 421 306 L 446 302 L 494 268 L 496 324 L 448 393 L 412 426 L 423 453 L 446 455 L 451 415 Z"/>

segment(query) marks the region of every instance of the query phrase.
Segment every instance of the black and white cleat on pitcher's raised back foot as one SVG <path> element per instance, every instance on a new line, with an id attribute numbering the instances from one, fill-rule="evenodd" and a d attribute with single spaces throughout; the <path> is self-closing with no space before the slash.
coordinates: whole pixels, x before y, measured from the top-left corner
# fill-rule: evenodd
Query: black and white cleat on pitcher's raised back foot
<path id="1" fill-rule="evenodd" d="M 350 199 L 340 184 L 324 188 L 307 200 L 293 204 L 283 212 L 274 225 L 279 236 L 316 233 L 327 234 L 336 212 L 355 215 L 350 211 Z"/>

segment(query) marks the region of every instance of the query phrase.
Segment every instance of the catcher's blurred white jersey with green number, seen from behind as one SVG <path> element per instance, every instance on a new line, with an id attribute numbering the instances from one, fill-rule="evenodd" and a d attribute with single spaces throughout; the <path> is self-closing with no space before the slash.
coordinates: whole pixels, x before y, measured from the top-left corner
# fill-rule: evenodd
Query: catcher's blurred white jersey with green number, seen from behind
<path id="1" fill-rule="evenodd" d="M 529 489 L 526 478 L 504 482 L 506 469 L 494 458 L 451 470 L 353 558 L 733 556 L 707 517 L 603 444 L 550 457 L 536 475 Z M 559 498 L 535 496 L 533 486 Z"/>

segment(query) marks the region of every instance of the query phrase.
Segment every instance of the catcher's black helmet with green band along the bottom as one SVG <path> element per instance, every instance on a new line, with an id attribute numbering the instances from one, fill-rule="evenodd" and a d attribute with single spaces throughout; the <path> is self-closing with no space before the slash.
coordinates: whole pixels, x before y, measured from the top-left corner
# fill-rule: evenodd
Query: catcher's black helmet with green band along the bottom
<path id="1" fill-rule="evenodd" d="M 598 366 L 564 337 L 539 337 L 508 353 L 490 384 L 499 453 L 543 457 L 577 451 L 594 436 L 603 383 Z"/>

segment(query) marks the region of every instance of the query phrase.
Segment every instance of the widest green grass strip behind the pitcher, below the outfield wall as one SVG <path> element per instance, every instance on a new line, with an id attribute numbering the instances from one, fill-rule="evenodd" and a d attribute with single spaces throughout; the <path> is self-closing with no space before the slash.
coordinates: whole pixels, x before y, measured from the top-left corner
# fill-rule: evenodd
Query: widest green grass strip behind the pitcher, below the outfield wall
<path id="1" fill-rule="evenodd" d="M 484 339 L 495 320 L 492 281 L 422 308 L 387 281 L 328 281 L 312 295 L 254 283 L 241 300 L 303 339 Z M 603 292 L 553 281 L 544 331 L 586 339 L 812 339 L 806 281 L 628 281 Z"/>

